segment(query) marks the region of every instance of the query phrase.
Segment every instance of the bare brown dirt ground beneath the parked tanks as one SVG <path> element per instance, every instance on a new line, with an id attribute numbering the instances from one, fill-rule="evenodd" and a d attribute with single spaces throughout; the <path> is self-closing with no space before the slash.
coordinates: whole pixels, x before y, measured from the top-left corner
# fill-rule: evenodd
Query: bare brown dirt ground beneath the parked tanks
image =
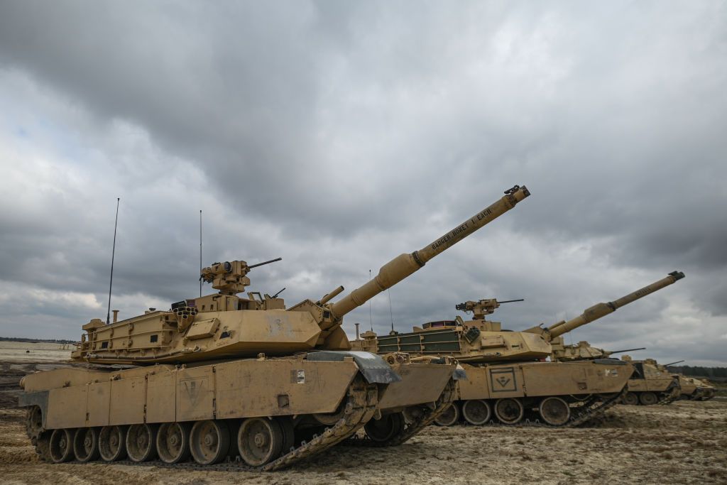
<path id="1" fill-rule="evenodd" d="M 57 365 L 57 364 L 55 364 Z M 438 428 L 403 446 L 337 446 L 292 470 L 262 473 L 146 465 L 49 465 L 25 436 L 17 380 L 48 362 L 0 362 L 4 484 L 727 484 L 727 401 L 614 406 L 576 429 Z"/>

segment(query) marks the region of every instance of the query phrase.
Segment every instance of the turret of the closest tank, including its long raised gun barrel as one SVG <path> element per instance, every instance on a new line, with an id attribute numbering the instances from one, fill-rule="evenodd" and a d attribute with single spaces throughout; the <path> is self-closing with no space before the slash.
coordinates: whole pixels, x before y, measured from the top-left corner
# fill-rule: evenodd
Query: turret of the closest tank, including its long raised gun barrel
<path id="1" fill-rule="evenodd" d="M 250 270 L 281 258 L 255 265 L 242 260 L 215 262 L 201 271 L 201 279 L 212 284 L 217 294 L 182 300 L 166 311 L 150 309 L 109 325 L 93 320 L 84 326 L 87 336 L 72 357 L 95 364 L 156 364 L 350 350 L 341 328 L 346 313 L 410 276 L 527 196 L 527 188 L 515 185 L 494 204 L 422 249 L 387 262 L 375 278 L 337 302 L 331 300 L 344 291 L 342 286 L 318 300 L 303 300 L 287 309 L 277 294 L 248 292 L 241 297 L 238 294 L 250 285 Z"/>

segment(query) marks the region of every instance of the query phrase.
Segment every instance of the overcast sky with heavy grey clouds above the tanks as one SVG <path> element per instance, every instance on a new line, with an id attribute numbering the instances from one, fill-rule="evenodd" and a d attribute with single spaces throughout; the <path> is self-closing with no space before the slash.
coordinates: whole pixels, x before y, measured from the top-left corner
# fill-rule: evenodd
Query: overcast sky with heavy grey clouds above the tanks
<path id="1" fill-rule="evenodd" d="M 198 294 L 200 209 L 205 265 L 283 257 L 250 289 L 292 305 L 524 184 L 391 289 L 396 329 L 486 297 L 552 324 L 683 270 L 566 340 L 725 366 L 726 87 L 724 1 L 0 0 L 0 335 L 105 319 L 116 197 L 127 318 Z"/>

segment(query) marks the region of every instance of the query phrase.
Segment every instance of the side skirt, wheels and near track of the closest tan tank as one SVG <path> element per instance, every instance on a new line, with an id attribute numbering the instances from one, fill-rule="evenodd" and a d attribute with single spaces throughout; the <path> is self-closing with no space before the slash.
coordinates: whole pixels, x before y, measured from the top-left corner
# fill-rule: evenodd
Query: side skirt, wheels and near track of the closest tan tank
<path id="1" fill-rule="evenodd" d="M 373 417 L 387 383 L 364 374 L 353 357 L 307 356 L 58 369 L 25 377 L 20 405 L 28 407 L 28 436 L 51 462 L 193 457 L 207 465 L 240 453 L 247 465 L 276 470 L 348 438 Z M 321 422 L 329 428 L 310 438 Z"/>

